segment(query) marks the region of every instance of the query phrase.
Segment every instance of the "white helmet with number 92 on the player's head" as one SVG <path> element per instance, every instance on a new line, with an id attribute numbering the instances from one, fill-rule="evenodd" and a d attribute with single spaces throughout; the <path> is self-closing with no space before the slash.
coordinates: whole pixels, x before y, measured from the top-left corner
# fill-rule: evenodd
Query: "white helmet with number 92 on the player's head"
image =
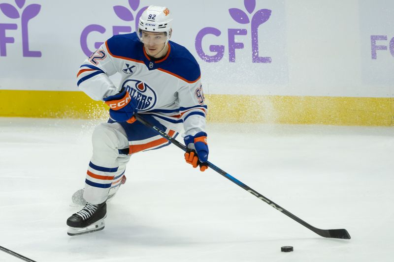
<path id="1" fill-rule="evenodd" d="M 150 5 L 141 14 L 138 23 L 137 35 L 138 39 L 142 41 L 142 31 L 149 32 L 165 32 L 166 41 L 168 43 L 171 37 L 172 15 L 167 7 Z"/>

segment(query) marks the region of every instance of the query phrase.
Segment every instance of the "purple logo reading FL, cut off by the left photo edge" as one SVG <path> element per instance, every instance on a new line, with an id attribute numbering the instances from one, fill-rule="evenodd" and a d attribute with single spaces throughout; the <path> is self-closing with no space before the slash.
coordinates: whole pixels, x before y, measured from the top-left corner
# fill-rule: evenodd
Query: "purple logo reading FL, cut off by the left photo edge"
<path id="1" fill-rule="evenodd" d="M 38 15 L 41 9 L 39 4 L 30 4 L 26 6 L 23 10 L 26 0 L 15 0 L 18 9 L 9 3 L 0 3 L 1 12 L 11 19 L 21 18 L 21 28 L 22 28 L 22 50 L 24 57 L 41 57 L 40 51 L 30 51 L 29 50 L 29 28 L 28 23 L 34 17 Z M 16 30 L 18 29 L 17 24 L 0 24 L 0 57 L 5 57 L 7 55 L 6 44 L 14 43 L 15 39 L 13 37 L 6 36 L 6 30 Z"/>

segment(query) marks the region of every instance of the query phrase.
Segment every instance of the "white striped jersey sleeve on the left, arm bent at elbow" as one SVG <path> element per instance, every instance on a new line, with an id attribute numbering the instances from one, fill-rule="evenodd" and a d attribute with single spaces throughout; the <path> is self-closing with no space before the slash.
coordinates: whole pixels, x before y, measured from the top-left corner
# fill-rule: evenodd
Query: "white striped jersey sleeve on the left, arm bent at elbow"
<path id="1" fill-rule="evenodd" d="M 108 51 L 107 42 L 87 58 L 77 74 L 77 86 L 94 100 L 114 95 L 119 92 L 109 76 L 119 71 L 119 64 Z"/>

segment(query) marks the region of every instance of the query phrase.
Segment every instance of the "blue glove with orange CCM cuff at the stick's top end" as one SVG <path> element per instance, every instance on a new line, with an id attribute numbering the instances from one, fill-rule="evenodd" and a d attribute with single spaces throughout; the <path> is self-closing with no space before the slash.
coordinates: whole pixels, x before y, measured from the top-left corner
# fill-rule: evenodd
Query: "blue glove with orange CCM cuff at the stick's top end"
<path id="1" fill-rule="evenodd" d="M 126 90 L 121 90 L 116 95 L 104 98 L 105 104 L 109 106 L 109 116 L 117 122 L 133 123 L 135 121 L 134 113 L 138 112 L 137 101 L 131 97 Z"/>

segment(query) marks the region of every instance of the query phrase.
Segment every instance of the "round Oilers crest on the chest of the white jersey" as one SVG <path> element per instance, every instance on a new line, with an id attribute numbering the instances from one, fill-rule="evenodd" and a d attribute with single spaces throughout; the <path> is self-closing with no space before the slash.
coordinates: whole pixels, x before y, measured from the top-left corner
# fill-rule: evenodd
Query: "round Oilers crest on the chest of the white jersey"
<path id="1" fill-rule="evenodd" d="M 125 81 L 122 88 L 129 91 L 131 97 L 137 101 L 138 111 L 148 111 L 156 104 L 156 93 L 146 83 L 134 79 Z"/>

